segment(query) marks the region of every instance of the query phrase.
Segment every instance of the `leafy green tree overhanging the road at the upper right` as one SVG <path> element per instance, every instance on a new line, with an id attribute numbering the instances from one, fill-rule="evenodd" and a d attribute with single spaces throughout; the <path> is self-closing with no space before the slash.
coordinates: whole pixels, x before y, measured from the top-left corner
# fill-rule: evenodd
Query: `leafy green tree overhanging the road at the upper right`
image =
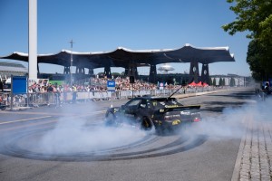
<path id="1" fill-rule="evenodd" d="M 272 3 L 267 0 L 227 0 L 230 10 L 237 14 L 234 22 L 222 28 L 230 35 L 248 31 L 250 57 L 247 62 L 257 80 L 272 76 Z M 249 47 L 250 46 L 250 47 Z M 253 46 L 253 47 L 252 47 Z M 257 49 L 254 49 L 257 48 Z M 253 50 L 249 50 L 252 48 Z M 254 54 L 256 52 L 256 54 Z M 253 59 L 255 57 L 255 59 Z M 266 77 L 263 77 L 266 76 Z"/>

